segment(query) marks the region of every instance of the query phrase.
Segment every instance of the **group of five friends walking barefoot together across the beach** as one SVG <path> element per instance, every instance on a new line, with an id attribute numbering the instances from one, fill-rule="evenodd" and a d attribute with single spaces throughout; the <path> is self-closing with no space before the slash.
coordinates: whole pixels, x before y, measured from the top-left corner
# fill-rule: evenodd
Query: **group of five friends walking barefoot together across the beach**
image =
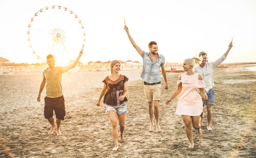
<path id="1" fill-rule="evenodd" d="M 148 114 L 150 116 L 149 130 L 154 131 L 154 127 L 156 126 L 156 131 L 161 132 L 159 125 L 159 101 L 161 94 L 160 68 L 165 82 L 164 89 L 168 89 L 167 77 L 164 68 L 164 56 L 158 54 L 158 46 L 155 41 L 151 41 L 148 44 L 149 52 L 143 51 L 131 37 L 126 25 L 124 26 L 124 30 L 126 31 L 132 45 L 143 59 L 143 70 L 140 77 L 144 81 L 143 89 L 145 99 L 147 101 Z M 215 100 L 214 90 L 212 90 L 212 87 L 214 86 L 213 72 L 214 68 L 226 59 L 231 48 L 232 42 L 229 43 L 225 54 L 215 62 L 208 62 L 207 54 L 203 51 L 199 53 L 198 57 L 185 59 L 183 62 L 183 69 L 185 73 L 179 76 L 176 91 L 165 101 L 165 103 L 168 104 L 178 94 L 180 94 L 176 114 L 181 115 L 183 119 L 185 133 L 189 140 L 188 148 L 194 148 L 191 126 L 197 129 L 198 138 L 203 137 L 201 125 L 204 120 L 203 106 L 205 105 L 207 108 L 207 129 L 212 130 L 212 106 L 214 105 Z M 41 92 L 46 85 L 44 115 L 51 124 L 51 129 L 48 132 L 49 135 L 52 135 L 55 129 L 57 136 L 61 135 L 59 129 L 60 123 L 61 120 L 64 120 L 64 116 L 66 115 L 65 100 L 61 87 L 61 74 L 74 68 L 82 54 L 83 50 L 79 52 L 78 58 L 72 65 L 65 67 L 55 67 L 53 55 L 47 56 L 47 64 L 49 65 L 49 68 L 43 72 L 43 79 L 40 85 L 37 101 L 40 101 Z M 126 96 L 128 93 L 127 81 L 129 78 L 119 73 L 120 68 L 121 63 L 118 60 L 111 62 L 111 74 L 106 76 L 102 81 L 103 88 L 96 103 L 96 106 L 100 106 L 100 101 L 103 97 L 103 103 L 105 104 L 106 112 L 108 113 L 112 124 L 112 135 L 115 142 L 115 147 L 112 149 L 113 151 L 118 149 L 119 135 L 119 141 L 124 141 L 123 131 L 125 127 L 125 114 L 127 109 Z M 56 125 L 53 119 L 53 111 L 56 115 Z M 153 122 L 154 116 L 156 121 L 155 124 Z M 119 122 L 119 134 L 117 118 Z"/>

